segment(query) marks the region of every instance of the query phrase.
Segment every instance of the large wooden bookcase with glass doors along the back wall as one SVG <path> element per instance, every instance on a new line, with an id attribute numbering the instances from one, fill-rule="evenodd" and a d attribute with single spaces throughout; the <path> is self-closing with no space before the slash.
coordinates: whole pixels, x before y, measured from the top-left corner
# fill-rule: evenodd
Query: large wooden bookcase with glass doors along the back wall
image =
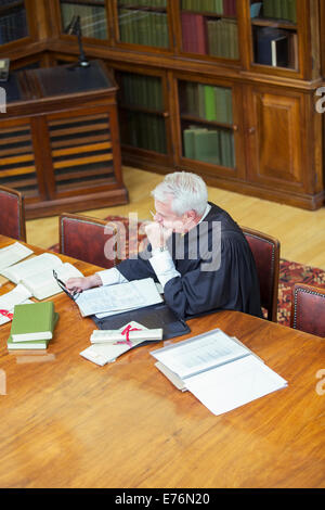
<path id="1" fill-rule="evenodd" d="M 26 1 L 29 16 L 34 1 Z M 78 58 L 77 39 L 65 29 L 79 15 L 88 58 L 113 69 L 126 164 L 193 170 L 212 186 L 310 209 L 324 203 L 323 119 L 315 109 L 325 61 L 321 0 L 39 5 L 48 38 L 39 30 L 35 37 L 49 62 Z M 35 48 L 34 41 L 25 53 Z M 22 49 L 10 51 L 13 61 L 22 59 Z"/>

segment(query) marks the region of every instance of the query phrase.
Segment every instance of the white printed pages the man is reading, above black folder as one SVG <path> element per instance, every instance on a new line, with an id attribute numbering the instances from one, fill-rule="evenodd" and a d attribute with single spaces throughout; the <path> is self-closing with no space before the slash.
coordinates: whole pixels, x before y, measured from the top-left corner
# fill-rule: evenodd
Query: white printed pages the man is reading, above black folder
<path id="1" fill-rule="evenodd" d="M 162 297 L 152 278 L 83 291 L 76 299 L 82 317 L 98 318 L 161 303 Z"/>

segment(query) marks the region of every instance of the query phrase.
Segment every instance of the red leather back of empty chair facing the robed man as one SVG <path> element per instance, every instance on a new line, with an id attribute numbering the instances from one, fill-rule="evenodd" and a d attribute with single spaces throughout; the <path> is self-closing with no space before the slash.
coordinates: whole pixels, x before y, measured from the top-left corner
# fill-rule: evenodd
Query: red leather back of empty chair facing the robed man
<path id="1" fill-rule="evenodd" d="M 116 264 L 116 227 L 103 219 L 62 213 L 60 253 L 109 269 Z"/>

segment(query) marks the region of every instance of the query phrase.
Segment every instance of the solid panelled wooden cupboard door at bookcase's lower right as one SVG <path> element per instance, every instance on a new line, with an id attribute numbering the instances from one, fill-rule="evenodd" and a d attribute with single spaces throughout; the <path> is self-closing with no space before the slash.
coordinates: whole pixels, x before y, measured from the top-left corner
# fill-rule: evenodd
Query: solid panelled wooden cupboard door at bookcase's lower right
<path id="1" fill-rule="evenodd" d="M 313 94 L 247 86 L 245 103 L 247 181 L 260 187 L 261 196 L 272 193 L 281 202 L 320 207 L 322 126 Z"/>

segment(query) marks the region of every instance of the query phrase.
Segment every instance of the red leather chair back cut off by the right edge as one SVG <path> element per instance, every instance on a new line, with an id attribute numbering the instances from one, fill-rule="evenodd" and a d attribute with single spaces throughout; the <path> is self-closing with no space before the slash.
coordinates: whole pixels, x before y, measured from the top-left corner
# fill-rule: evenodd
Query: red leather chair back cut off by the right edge
<path id="1" fill-rule="evenodd" d="M 295 283 L 290 327 L 306 333 L 325 336 L 325 289 Z"/>

